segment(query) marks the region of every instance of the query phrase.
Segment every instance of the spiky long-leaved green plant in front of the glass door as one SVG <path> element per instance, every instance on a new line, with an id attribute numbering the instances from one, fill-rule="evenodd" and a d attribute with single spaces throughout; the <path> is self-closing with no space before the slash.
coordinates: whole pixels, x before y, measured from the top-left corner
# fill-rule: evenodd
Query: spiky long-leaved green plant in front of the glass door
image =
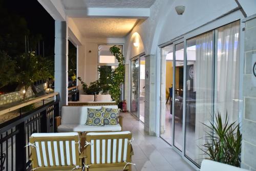
<path id="1" fill-rule="evenodd" d="M 217 116 L 215 115 L 214 123 L 204 125 L 211 131 L 206 132 L 205 144 L 201 150 L 209 156 L 210 160 L 240 167 L 242 134 L 239 123 L 229 124 L 227 114 L 223 122 L 218 113 Z"/>

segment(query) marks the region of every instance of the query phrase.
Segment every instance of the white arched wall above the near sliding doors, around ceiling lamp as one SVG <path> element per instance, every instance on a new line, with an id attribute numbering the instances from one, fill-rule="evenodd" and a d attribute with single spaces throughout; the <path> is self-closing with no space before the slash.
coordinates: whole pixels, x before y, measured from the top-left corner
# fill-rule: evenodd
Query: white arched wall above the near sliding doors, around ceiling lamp
<path id="1" fill-rule="evenodd" d="M 183 15 L 178 15 L 175 7 L 186 7 Z M 146 54 L 156 54 L 157 46 L 196 29 L 211 20 L 237 8 L 234 0 L 156 0 L 151 7 L 151 16 L 139 23 L 126 41 L 137 32 L 144 44 Z"/>

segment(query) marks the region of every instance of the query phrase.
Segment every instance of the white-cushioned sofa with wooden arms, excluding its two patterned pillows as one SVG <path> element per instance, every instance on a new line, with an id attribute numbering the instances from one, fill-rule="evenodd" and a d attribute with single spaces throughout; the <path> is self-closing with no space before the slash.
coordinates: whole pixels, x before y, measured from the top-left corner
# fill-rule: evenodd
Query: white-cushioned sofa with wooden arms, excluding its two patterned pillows
<path id="1" fill-rule="evenodd" d="M 118 108 L 117 105 L 103 105 L 103 107 Z M 101 106 L 62 106 L 61 117 L 56 117 L 57 132 L 122 131 L 121 116 L 118 117 L 116 125 L 86 125 L 88 108 L 99 109 Z"/>

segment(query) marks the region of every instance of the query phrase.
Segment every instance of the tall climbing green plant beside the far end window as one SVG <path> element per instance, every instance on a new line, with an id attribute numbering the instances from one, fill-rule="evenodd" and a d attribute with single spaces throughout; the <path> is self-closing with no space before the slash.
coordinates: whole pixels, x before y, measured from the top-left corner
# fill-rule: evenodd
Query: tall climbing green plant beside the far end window
<path id="1" fill-rule="evenodd" d="M 111 98 L 116 101 L 116 104 L 120 103 L 121 86 L 124 83 L 124 57 L 119 47 L 113 46 L 110 48 L 110 52 L 116 57 L 119 62 L 118 67 L 112 71 L 112 79 L 109 93 Z"/>

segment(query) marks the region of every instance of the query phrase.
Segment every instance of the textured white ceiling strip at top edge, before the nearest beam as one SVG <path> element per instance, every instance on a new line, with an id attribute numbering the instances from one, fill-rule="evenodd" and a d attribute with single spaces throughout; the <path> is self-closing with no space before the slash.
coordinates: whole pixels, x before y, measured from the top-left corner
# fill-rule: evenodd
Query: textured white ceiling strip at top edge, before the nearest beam
<path id="1" fill-rule="evenodd" d="M 62 0 L 65 9 L 149 8 L 156 0 Z"/>

